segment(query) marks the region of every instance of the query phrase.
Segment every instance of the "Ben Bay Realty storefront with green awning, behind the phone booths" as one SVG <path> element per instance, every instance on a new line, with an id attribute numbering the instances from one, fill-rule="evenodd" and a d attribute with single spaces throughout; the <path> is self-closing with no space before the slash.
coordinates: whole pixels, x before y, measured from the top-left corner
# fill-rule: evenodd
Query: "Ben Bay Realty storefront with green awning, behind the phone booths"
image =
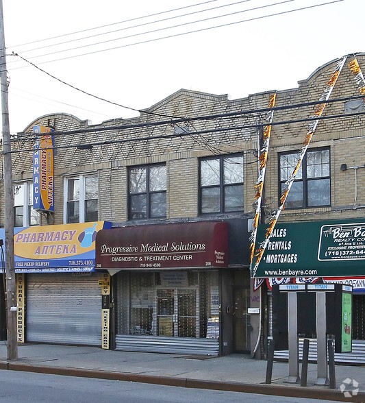
<path id="1" fill-rule="evenodd" d="M 260 228 L 260 236 L 263 231 L 264 226 Z M 336 354 L 336 360 L 344 363 L 365 363 L 365 222 L 363 220 L 277 224 L 257 269 L 256 277 L 267 278 L 269 292 L 272 284 L 290 282 L 351 285 L 353 352 Z M 315 338 L 315 334 L 302 336 Z M 314 340 L 313 347 L 315 343 Z M 284 358 L 287 354 L 277 352 L 276 356 Z M 312 358 L 315 356 L 316 350 L 313 349 Z"/>

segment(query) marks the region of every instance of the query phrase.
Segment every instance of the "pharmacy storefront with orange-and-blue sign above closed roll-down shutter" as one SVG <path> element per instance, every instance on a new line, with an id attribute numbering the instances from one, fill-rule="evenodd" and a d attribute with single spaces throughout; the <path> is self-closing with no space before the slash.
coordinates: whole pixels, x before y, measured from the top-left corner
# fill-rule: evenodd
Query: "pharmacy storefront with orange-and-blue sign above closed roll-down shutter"
<path id="1" fill-rule="evenodd" d="M 95 239 L 110 223 L 14 229 L 18 342 L 101 346 L 101 283 Z"/>

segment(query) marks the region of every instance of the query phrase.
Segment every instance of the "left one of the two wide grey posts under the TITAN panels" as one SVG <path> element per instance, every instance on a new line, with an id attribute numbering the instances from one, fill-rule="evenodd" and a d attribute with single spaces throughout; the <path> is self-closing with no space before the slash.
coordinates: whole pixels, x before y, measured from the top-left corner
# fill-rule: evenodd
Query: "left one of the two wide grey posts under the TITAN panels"
<path id="1" fill-rule="evenodd" d="M 286 382 L 298 383 L 299 377 L 299 345 L 298 345 L 298 309 L 297 293 L 288 293 L 288 344 L 289 344 L 289 376 Z"/>

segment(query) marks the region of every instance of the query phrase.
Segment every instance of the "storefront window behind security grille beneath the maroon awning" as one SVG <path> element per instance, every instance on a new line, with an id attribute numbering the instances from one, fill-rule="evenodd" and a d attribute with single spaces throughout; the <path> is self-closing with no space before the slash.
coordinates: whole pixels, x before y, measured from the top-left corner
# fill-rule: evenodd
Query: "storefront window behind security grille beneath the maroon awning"
<path id="1" fill-rule="evenodd" d="M 123 271 L 117 300 L 118 334 L 218 338 L 218 271 Z"/>

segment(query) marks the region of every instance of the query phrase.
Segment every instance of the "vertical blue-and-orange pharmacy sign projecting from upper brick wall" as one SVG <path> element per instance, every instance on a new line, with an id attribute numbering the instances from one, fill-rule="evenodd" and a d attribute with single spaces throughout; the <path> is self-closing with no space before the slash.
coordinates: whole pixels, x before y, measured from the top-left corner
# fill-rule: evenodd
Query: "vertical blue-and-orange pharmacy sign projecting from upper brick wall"
<path id="1" fill-rule="evenodd" d="M 33 152 L 33 208 L 54 211 L 53 195 L 53 129 L 38 125 L 33 132 L 39 133 Z"/>

